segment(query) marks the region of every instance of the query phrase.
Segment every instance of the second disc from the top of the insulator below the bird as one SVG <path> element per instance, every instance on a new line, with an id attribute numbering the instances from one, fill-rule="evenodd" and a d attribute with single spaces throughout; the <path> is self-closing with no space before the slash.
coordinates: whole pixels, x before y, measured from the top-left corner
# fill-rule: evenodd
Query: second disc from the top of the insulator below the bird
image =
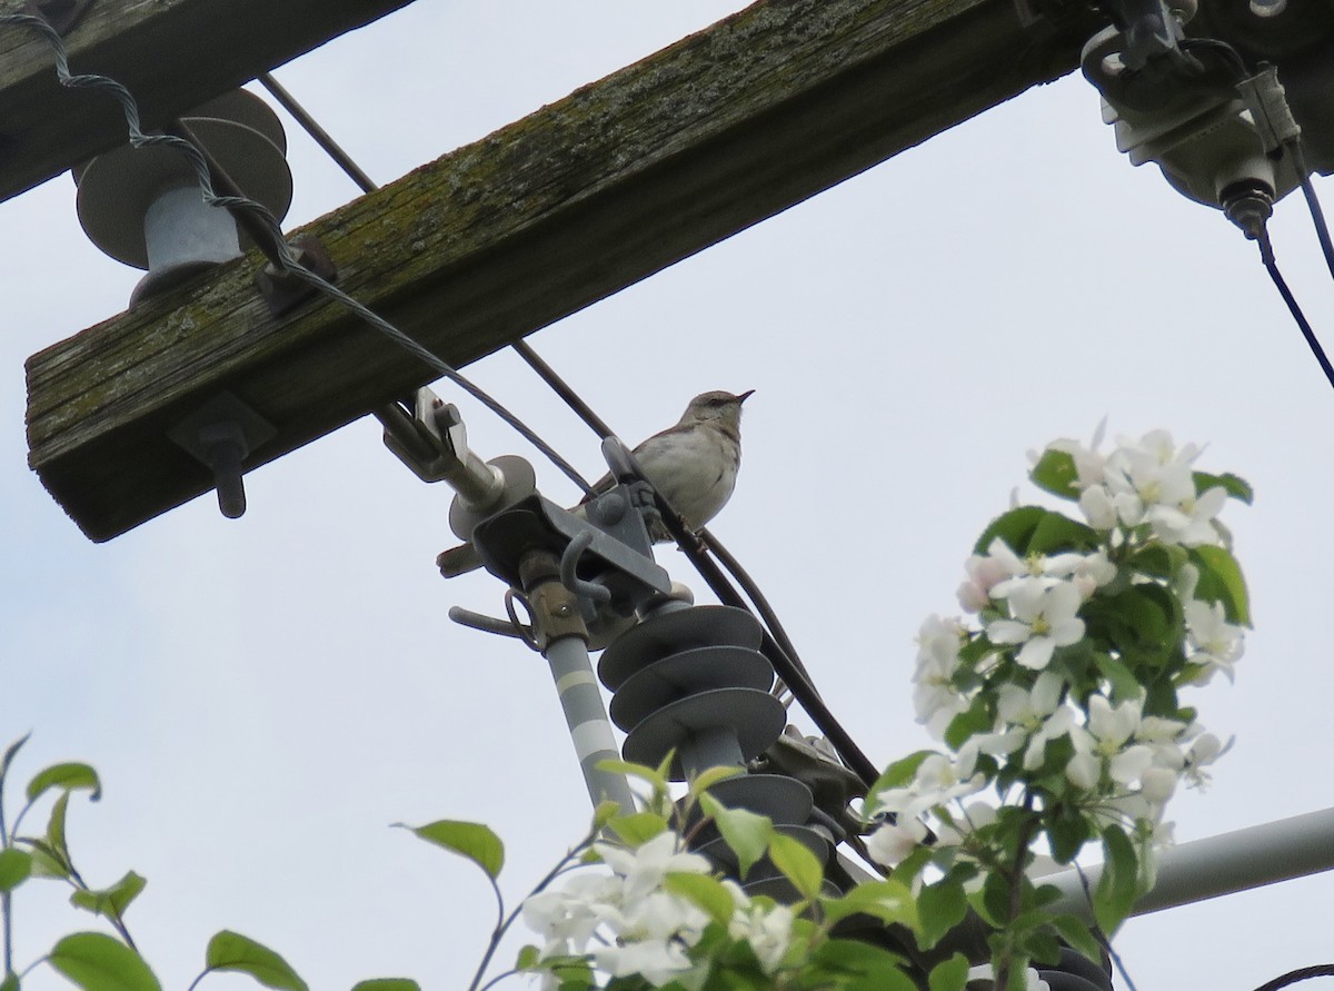
<path id="1" fill-rule="evenodd" d="M 670 654 L 631 674 L 611 697 L 611 721 L 630 731 L 651 712 L 695 692 L 774 685 L 774 668 L 759 650 L 696 646 Z"/>

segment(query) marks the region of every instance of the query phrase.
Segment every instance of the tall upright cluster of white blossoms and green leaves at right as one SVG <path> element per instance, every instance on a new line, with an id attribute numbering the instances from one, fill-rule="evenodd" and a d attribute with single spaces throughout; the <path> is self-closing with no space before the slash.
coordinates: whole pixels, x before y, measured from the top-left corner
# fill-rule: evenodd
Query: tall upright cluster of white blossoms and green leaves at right
<path id="1" fill-rule="evenodd" d="M 1099 429 L 1101 433 L 1101 429 Z M 1249 621 L 1245 582 L 1217 517 L 1234 475 L 1193 469 L 1201 449 L 1155 430 L 1109 453 L 1059 441 L 1034 482 L 1078 505 L 1083 521 L 1041 506 L 996 520 L 964 562 L 963 618 L 930 616 L 918 634 L 918 721 L 948 753 L 923 752 L 882 779 L 872 859 L 894 865 L 934 833 L 959 856 L 996 821 L 980 800 L 1022 793 L 1058 860 L 1117 825 L 1151 876 L 1163 809 L 1201 787 L 1226 749 L 1177 692 L 1231 680 Z M 971 804 L 966 804 L 971 803 Z M 934 815 L 928 832 L 923 816 Z M 1073 816 L 1078 815 L 1078 819 Z"/>

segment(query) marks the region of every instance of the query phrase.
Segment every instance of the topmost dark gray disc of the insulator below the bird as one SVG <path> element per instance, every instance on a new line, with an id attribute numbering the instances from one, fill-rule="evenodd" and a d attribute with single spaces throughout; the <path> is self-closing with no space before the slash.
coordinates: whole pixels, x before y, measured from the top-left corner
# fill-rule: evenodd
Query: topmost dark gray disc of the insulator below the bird
<path id="1" fill-rule="evenodd" d="M 615 692 L 640 668 L 696 646 L 747 646 L 763 640 L 759 620 L 728 605 L 698 605 L 644 620 L 603 650 L 598 677 Z"/>

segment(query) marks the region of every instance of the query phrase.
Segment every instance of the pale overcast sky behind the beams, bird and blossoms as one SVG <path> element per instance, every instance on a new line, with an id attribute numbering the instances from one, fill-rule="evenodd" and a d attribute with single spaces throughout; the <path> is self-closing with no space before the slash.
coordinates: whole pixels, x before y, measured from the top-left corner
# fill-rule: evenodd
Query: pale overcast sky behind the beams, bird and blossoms
<path id="1" fill-rule="evenodd" d="M 276 75 L 390 182 L 739 7 L 422 0 Z M 288 226 L 358 194 L 291 122 L 288 140 Z M 1334 286 L 1299 198 L 1273 234 L 1330 331 Z M 542 658 L 446 618 L 454 604 L 499 613 L 503 590 L 436 573 L 450 491 L 416 481 L 366 419 L 248 475 L 240 521 L 205 495 L 89 544 L 25 466 L 23 362 L 121 311 L 140 274 L 83 235 L 68 175 L 0 206 L 0 741 L 35 731 L 20 781 L 56 760 L 101 771 L 103 801 L 71 812 L 75 856 L 93 884 L 148 877 L 129 922 L 165 987 L 188 984 L 220 928 L 317 988 L 464 986 L 487 885 L 390 824 L 492 824 L 519 899 L 588 804 Z M 927 613 L 956 610 L 962 561 L 1029 449 L 1087 438 L 1105 415 L 1111 433 L 1207 442 L 1201 467 L 1257 490 L 1225 517 L 1257 629 L 1237 685 L 1194 697 L 1237 747 L 1169 815 L 1190 840 L 1334 805 L 1334 395 L 1254 246 L 1118 155 L 1081 77 L 530 341 L 630 442 L 699 391 L 756 390 L 740 483 L 712 529 L 880 764 L 927 743 L 912 637 Z M 602 470 L 596 438 L 511 354 L 470 374 Z M 575 498 L 507 427 L 439 391 L 484 457 L 530 455 L 546 494 Z M 707 600 L 680 554 L 660 558 Z M 1141 991 L 1249 991 L 1327 960 L 1331 896 L 1329 876 L 1291 881 L 1134 920 L 1118 946 Z M 20 962 L 89 924 L 64 898 L 24 888 Z M 25 983 L 64 986 L 47 970 Z"/>

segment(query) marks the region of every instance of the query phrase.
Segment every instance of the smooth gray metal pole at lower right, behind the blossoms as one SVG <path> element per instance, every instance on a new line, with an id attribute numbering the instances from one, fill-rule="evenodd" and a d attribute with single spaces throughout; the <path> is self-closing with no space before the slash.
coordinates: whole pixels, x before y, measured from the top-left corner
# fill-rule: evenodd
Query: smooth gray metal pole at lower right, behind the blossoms
<path id="1" fill-rule="evenodd" d="M 1334 808 L 1169 847 L 1159 855 L 1158 881 L 1135 903 L 1133 915 L 1330 869 L 1334 869 Z M 1085 875 L 1093 891 L 1102 868 L 1093 867 Z M 1053 911 L 1091 918 L 1078 871 L 1037 880 L 1061 888 L 1062 898 L 1051 906 Z"/>

